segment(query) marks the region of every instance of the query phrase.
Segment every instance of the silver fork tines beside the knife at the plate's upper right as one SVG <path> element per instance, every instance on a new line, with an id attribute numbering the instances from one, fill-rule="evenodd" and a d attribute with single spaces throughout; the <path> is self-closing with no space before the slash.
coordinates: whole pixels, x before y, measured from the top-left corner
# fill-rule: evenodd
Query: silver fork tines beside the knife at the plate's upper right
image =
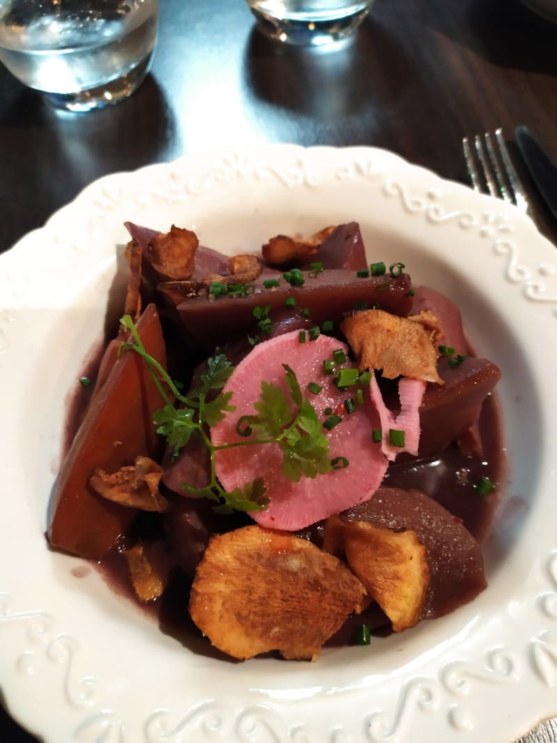
<path id="1" fill-rule="evenodd" d="M 489 192 L 532 216 L 524 186 L 512 164 L 501 129 L 495 129 L 495 136 L 489 132 L 483 134 L 483 137 L 476 134 L 473 147 L 469 138 L 464 137 L 462 149 L 475 191 Z"/>

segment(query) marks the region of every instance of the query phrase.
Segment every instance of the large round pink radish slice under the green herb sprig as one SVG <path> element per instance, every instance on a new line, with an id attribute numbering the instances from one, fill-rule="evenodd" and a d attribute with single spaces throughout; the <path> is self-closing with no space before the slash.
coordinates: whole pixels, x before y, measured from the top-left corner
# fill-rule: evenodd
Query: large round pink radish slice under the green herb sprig
<path id="1" fill-rule="evenodd" d="M 295 371 L 302 392 L 311 400 L 320 420 L 327 418 L 328 407 L 342 415 L 341 423 L 330 432 L 323 431 L 330 441 L 330 458 L 346 457 L 348 467 L 316 478 L 302 477 L 299 482 L 285 478 L 281 474 L 282 452 L 278 444 L 216 452 L 216 473 L 227 490 L 263 478 L 270 503 L 264 510 L 250 513 L 262 526 L 293 531 L 326 519 L 371 498 L 385 475 L 388 461 L 371 438 L 372 429 L 380 426 L 379 416 L 368 395 L 354 413 L 347 415 L 344 402 L 355 398 L 356 387 L 340 392 L 333 376 L 323 374 L 323 361 L 332 359 L 337 348 L 348 354 L 344 343 L 323 335 L 305 343 L 299 342 L 299 331 L 275 337 L 255 346 L 224 386 L 224 392 L 233 393 L 236 410 L 211 430 L 215 446 L 246 441 L 236 432 L 236 424 L 241 415 L 255 414 L 253 405 L 261 394 L 261 380 L 278 384 L 287 393 L 283 363 Z M 319 395 L 307 392 L 310 382 L 322 386 Z"/>

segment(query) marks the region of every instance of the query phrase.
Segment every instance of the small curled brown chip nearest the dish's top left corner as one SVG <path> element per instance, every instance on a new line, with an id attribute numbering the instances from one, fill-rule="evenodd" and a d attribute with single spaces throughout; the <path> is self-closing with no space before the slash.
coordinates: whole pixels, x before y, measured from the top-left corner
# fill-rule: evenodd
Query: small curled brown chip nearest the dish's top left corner
<path id="1" fill-rule="evenodd" d="M 192 276 L 198 244 L 195 233 L 173 224 L 169 233 L 161 233 L 149 241 L 144 257 L 161 279 L 183 281 Z"/>

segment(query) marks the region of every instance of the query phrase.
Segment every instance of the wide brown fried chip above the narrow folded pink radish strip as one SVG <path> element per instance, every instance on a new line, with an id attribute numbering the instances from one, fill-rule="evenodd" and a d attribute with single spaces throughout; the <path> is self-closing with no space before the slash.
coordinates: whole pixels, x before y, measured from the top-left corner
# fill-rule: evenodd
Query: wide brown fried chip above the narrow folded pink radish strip
<path id="1" fill-rule="evenodd" d="M 383 377 L 411 377 L 443 384 L 431 332 L 420 322 L 383 310 L 356 312 L 341 323 L 359 369 L 382 369 Z"/>

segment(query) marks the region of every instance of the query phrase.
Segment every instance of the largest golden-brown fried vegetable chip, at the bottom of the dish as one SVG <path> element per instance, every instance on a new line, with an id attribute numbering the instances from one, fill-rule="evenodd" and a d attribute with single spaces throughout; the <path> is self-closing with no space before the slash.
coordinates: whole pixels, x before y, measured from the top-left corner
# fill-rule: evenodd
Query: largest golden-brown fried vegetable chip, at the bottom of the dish
<path id="1" fill-rule="evenodd" d="M 333 555 L 293 534 L 247 526 L 213 536 L 189 601 L 195 624 L 218 649 L 245 660 L 278 650 L 314 660 L 365 588 Z"/>

